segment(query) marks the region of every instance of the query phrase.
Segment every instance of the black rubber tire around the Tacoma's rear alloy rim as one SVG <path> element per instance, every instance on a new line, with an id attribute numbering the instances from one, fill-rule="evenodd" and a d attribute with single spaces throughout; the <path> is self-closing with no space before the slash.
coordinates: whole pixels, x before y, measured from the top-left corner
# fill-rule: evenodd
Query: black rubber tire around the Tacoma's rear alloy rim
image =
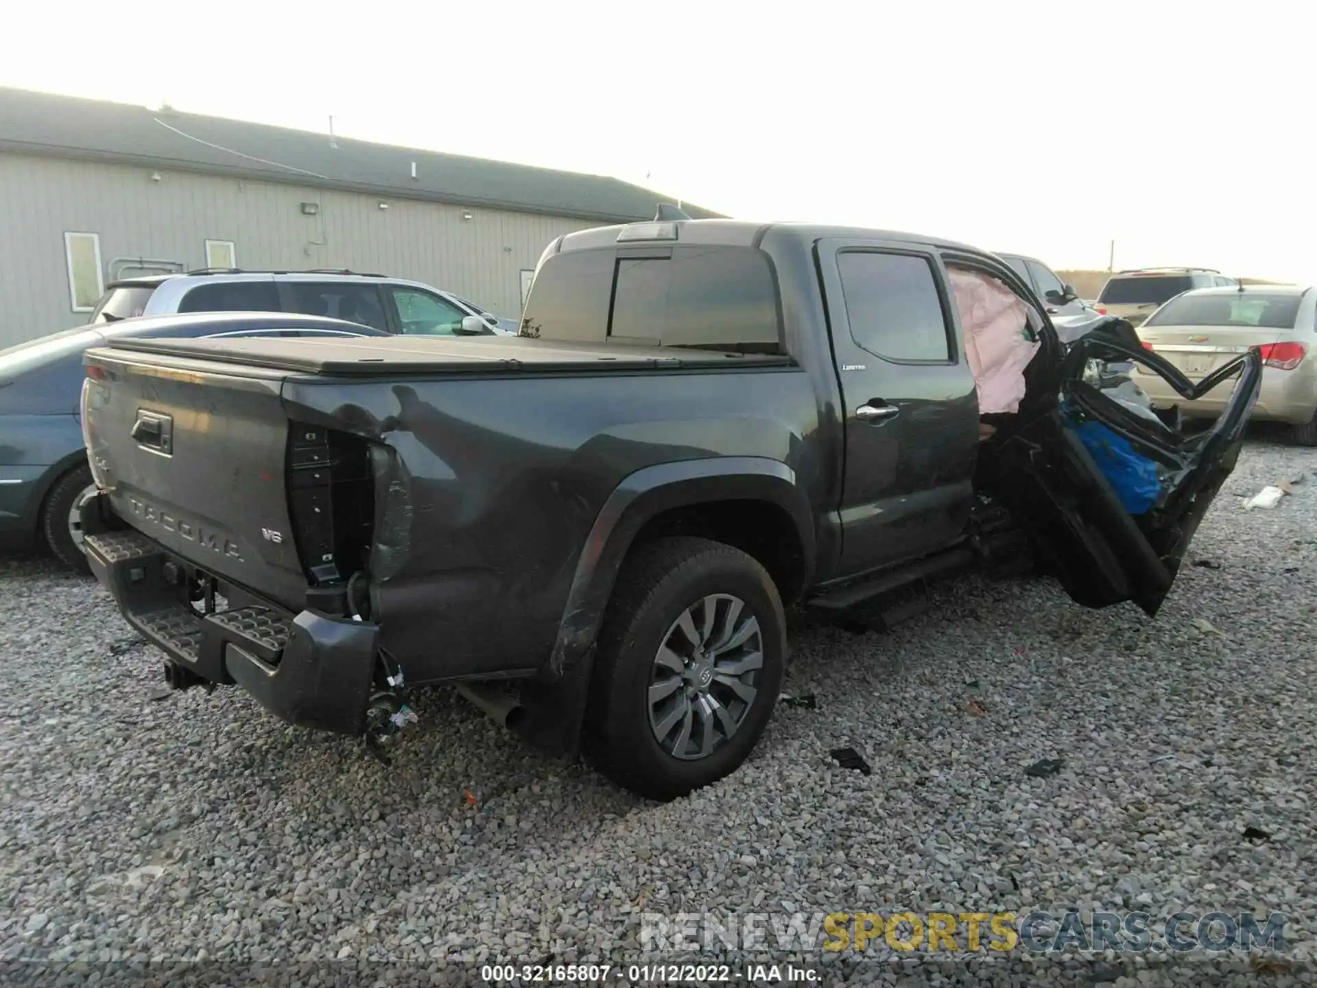
<path id="1" fill-rule="evenodd" d="M 711 754 L 680 759 L 660 747 L 651 723 L 651 677 L 660 645 L 668 642 L 678 618 L 719 594 L 740 601 L 741 615 L 748 611 L 759 624 L 757 653 L 763 661 L 755 673 L 756 693 L 744 706 L 739 726 Z M 718 613 L 727 619 L 724 627 L 731 634 L 730 626 L 736 622 L 727 618 L 726 610 Z M 707 539 L 670 537 L 643 544 L 632 551 L 618 577 L 599 632 L 582 730 L 585 756 L 607 779 L 652 800 L 670 800 L 709 785 L 734 772 L 753 751 L 777 703 L 785 661 L 782 601 L 772 577 L 755 559 Z M 723 689 L 706 685 L 706 690 Z M 687 706 L 691 702 L 687 700 Z"/>

